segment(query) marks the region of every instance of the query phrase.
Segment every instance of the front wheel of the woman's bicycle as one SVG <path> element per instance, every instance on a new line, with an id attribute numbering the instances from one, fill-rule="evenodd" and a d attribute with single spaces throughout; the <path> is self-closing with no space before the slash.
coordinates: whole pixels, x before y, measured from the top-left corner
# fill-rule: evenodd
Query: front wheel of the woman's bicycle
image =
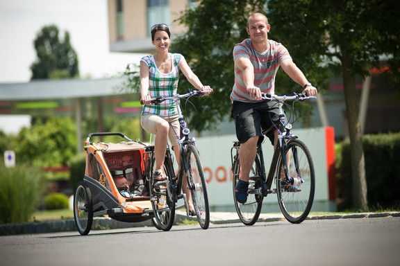
<path id="1" fill-rule="evenodd" d="M 192 195 L 197 221 L 202 229 L 208 229 L 210 225 L 210 208 L 208 206 L 207 183 L 204 178 L 203 167 L 196 146 L 189 144 L 186 159 L 190 170 L 188 187 Z"/>

